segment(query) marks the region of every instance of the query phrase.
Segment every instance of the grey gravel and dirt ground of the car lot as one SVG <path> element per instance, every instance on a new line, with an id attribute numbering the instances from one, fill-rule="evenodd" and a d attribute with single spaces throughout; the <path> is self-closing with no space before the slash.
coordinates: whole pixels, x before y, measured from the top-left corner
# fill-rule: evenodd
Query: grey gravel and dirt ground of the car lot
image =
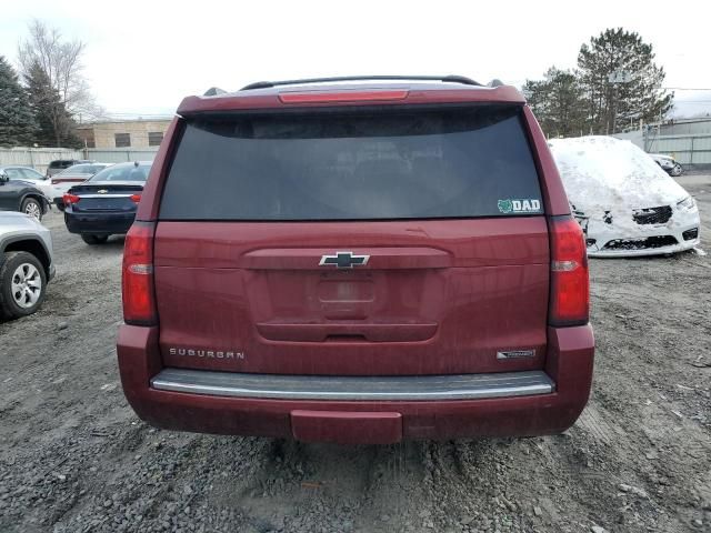
<path id="1" fill-rule="evenodd" d="M 711 177 L 680 181 L 709 239 Z M 711 255 L 591 261 L 593 392 L 565 434 L 346 447 L 140 422 L 123 241 L 46 224 L 47 301 L 0 323 L 1 532 L 711 531 Z"/>

